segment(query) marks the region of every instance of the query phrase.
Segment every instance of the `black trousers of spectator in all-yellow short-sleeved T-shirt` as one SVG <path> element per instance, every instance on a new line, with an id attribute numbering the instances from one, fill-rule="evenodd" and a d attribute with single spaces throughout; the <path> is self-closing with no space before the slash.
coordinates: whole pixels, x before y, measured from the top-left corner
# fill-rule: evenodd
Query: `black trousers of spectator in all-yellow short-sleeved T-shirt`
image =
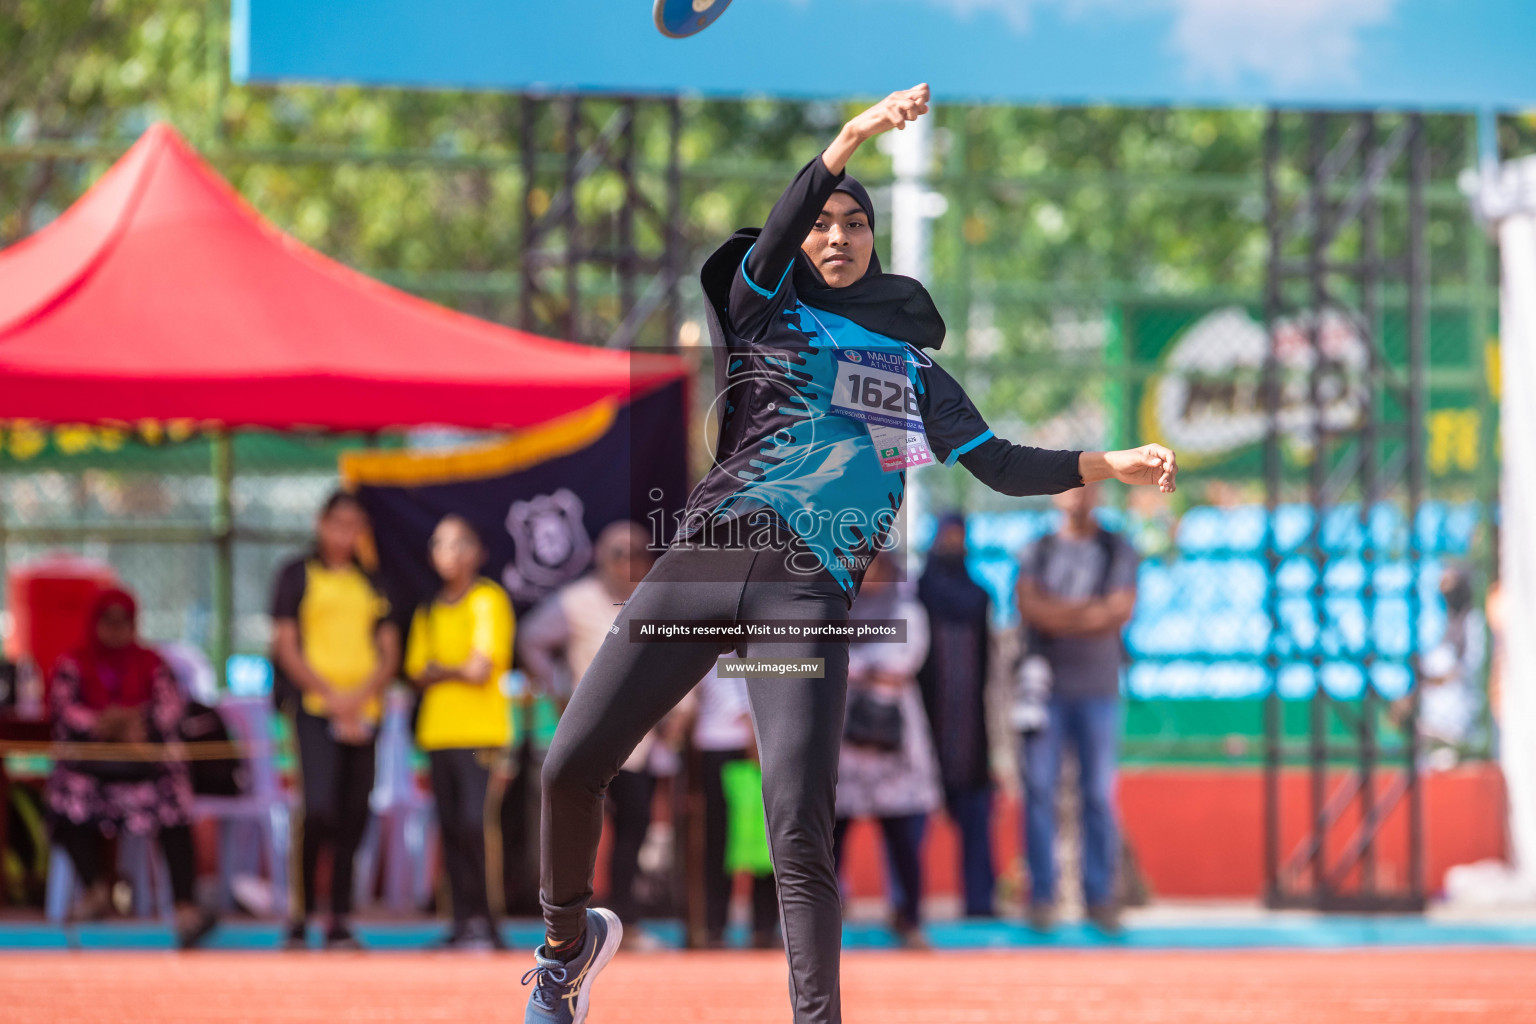
<path id="1" fill-rule="evenodd" d="M 432 798 L 438 804 L 442 869 L 453 897 L 453 923 L 490 920 L 485 886 L 485 794 L 493 751 L 429 751 Z"/>

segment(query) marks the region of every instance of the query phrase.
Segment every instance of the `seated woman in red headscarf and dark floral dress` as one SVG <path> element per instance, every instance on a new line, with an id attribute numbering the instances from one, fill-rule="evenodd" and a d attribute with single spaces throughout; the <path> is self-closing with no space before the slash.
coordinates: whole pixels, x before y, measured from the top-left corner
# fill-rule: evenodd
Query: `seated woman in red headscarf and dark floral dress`
<path id="1" fill-rule="evenodd" d="M 75 651 L 54 666 L 49 688 L 54 738 L 63 743 L 167 743 L 178 735 L 184 702 L 164 660 L 138 642 L 138 605 L 104 590 Z M 54 841 L 84 889 L 86 920 L 111 907 L 101 877 L 104 835 L 155 834 L 175 898 L 177 940 L 195 946 L 215 924 L 197 904 L 192 851 L 192 781 L 180 760 L 60 760 L 48 780 Z"/>

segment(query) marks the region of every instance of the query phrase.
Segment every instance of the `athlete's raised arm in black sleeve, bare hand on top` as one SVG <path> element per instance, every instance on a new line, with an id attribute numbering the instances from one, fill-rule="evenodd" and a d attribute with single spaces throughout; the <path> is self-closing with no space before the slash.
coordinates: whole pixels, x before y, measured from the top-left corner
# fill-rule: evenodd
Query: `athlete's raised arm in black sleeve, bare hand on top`
<path id="1" fill-rule="evenodd" d="M 763 232 L 746 256 L 746 273 L 765 292 L 776 290 L 790 270 L 800 243 L 811 233 L 822 207 L 843 180 L 843 169 L 854 152 L 892 127 L 903 127 L 928 112 L 928 86 L 892 92 L 872 107 L 843 124 L 826 150 L 805 164 L 783 190 L 773 212 L 763 221 Z"/>

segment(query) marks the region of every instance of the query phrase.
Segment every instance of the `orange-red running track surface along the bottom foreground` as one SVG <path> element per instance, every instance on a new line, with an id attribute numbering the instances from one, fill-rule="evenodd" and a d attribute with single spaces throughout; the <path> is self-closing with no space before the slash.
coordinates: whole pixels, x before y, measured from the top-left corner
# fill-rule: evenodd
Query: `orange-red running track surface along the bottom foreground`
<path id="1" fill-rule="evenodd" d="M 521 955 L 0 956 L 6 1024 L 518 1024 Z M 1518 1024 L 1536 950 L 851 953 L 848 1024 Z M 782 955 L 624 953 L 590 1024 L 786 1024 Z"/>

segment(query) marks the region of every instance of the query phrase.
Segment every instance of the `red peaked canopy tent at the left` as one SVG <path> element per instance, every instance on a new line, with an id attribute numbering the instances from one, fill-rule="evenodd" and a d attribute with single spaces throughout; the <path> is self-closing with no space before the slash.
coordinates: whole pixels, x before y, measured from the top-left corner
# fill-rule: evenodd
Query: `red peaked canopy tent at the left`
<path id="1" fill-rule="evenodd" d="M 413 298 L 264 221 L 157 124 L 0 252 L 0 418 L 518 428 L 685 375 Z"/>

